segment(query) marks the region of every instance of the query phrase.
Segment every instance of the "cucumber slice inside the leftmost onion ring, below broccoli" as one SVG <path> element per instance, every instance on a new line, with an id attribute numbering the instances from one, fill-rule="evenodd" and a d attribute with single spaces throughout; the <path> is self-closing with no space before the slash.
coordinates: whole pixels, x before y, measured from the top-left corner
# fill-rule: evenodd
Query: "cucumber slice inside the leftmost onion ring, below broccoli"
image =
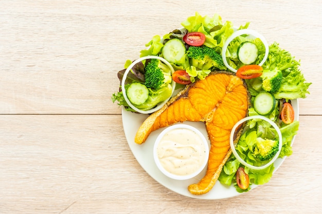
<path id="1" fill-rule="evenodd" d="M 127 96 L 134 105 L 141 105 L 149 97 L 149 89 L 141 83 L 132 83 L 127 89 Z"/>

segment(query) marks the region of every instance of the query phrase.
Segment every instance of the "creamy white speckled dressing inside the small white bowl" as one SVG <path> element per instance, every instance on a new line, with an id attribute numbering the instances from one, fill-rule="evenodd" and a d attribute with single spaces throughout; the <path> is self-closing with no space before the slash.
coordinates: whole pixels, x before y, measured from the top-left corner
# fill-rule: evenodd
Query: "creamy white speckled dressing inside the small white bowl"
<path id="1" fill-rule="evenodd" d="M 186 128 L 173 129 L 166 133 L 156 151 L 164 169 L 178 176 L 186 176 L 198 170 L 208 152 L 202 138 Z"/>

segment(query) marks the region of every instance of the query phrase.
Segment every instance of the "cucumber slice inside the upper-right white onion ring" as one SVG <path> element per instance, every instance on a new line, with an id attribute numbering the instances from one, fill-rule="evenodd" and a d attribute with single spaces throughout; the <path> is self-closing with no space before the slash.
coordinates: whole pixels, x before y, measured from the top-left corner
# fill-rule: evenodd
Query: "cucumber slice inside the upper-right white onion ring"
<path id="1" fill-rule="evenodd" d="M 245 65 L 252 64 L 258 57 L 258 48 L 252 42 L 243 42 L 237 49 L 238 60 Z"/>

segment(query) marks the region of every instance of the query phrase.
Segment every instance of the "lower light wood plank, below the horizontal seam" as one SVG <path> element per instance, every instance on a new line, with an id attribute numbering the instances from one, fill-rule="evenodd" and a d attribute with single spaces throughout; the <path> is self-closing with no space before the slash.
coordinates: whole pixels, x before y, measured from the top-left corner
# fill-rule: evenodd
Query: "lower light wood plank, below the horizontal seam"
<path id="1" fill-rule="evenodd" d="M 155 182 L 119 115 L 2 115 L 0 213 L 318 213 L 320 116 L 300 116 L 293 154 L 239 197 L 183 197 Z M 308 128 L 308 127 L 311 128 Z"/>

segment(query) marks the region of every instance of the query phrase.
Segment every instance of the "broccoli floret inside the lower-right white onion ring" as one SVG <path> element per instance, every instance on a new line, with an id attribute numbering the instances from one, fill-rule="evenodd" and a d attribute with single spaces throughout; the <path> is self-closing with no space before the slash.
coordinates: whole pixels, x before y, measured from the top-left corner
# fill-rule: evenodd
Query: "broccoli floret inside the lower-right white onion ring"
<path id="1" fill-rule="evenodd" d="M 268 161 L 274 157 L 278 149 L 277 140 L 257 138 L 257 142 L 254 145 L 254 154 L 259 160 Z"/>

